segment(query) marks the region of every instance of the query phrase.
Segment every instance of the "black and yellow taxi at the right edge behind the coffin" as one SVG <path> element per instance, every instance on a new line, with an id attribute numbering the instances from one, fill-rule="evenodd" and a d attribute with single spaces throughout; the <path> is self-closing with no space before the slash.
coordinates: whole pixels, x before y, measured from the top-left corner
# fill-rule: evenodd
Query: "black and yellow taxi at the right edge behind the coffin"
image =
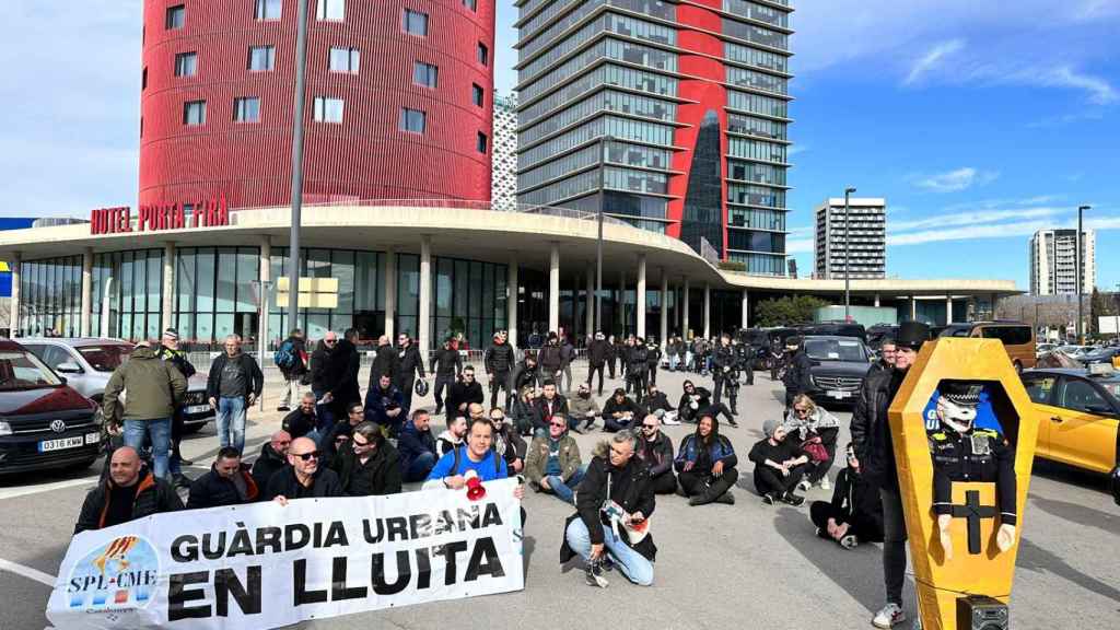
<path id="1" fill-rule="evenodd" d="M 1038 411 L 1039 457 L 1110 474 L 1117 492 L 1120 451 L 1120 371 L 1109 363 L 1084 369 L 1023 372 Z M 1120 497 L 1118 497 L 1120 501 Z"/>

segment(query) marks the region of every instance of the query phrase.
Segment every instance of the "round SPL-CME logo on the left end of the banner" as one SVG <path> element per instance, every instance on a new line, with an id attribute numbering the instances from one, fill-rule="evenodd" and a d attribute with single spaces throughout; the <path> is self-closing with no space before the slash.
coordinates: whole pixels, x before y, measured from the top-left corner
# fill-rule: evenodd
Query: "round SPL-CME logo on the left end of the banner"
<path id="1" fill-rule="evenodd" d="M 139 536 L 121 536 L 74 565 L 66 586 L 72 609 L 86 612 L 148 605 L 159 581 L 159 556 Z"/>

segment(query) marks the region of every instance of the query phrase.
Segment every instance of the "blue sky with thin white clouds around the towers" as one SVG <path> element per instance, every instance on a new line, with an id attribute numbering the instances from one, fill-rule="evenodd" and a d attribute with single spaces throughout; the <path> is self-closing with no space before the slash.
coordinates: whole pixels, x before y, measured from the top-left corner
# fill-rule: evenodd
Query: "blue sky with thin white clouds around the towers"
<path id="1" fill-rule="evenodd" d="M 140 0 L 6 0 L 0 215 L 136 203 Z M 1091 204 L 1120 282 L 1120 0 L 794 0 L 790 250 L 846 185 L 888 201 L 887 266 L 1028 280 L 1035 230 Z M 516 9 L 498 1 L 497 87 Z"/>

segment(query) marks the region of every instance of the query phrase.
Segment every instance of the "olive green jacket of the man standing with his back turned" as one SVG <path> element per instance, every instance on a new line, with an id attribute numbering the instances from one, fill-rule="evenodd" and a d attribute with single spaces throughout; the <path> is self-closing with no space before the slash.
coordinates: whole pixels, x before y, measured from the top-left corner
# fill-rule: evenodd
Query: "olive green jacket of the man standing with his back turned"
<path id="1" fill-rule="evenodd" d="M 116 400 L 125 392 L 124 417 L 116 418 Z M 153 420 L 170 418 L 187 392 L 187 379 L 156 351 L 137 346 L 129 360 L 113 371 L 105 386 L 101 410 L 105 419 Z"/>

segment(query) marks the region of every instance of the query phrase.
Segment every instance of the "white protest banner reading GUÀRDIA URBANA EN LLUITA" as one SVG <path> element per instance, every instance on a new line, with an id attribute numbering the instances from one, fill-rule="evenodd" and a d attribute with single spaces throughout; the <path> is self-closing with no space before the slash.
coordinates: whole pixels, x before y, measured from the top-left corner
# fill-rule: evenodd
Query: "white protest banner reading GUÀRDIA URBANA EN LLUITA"
<path id="1" fill-rule="evenodd" d="M 59 630 L 277 628 L 524 589 L 516 480 L 156 515 L 71 541 Z"/>

